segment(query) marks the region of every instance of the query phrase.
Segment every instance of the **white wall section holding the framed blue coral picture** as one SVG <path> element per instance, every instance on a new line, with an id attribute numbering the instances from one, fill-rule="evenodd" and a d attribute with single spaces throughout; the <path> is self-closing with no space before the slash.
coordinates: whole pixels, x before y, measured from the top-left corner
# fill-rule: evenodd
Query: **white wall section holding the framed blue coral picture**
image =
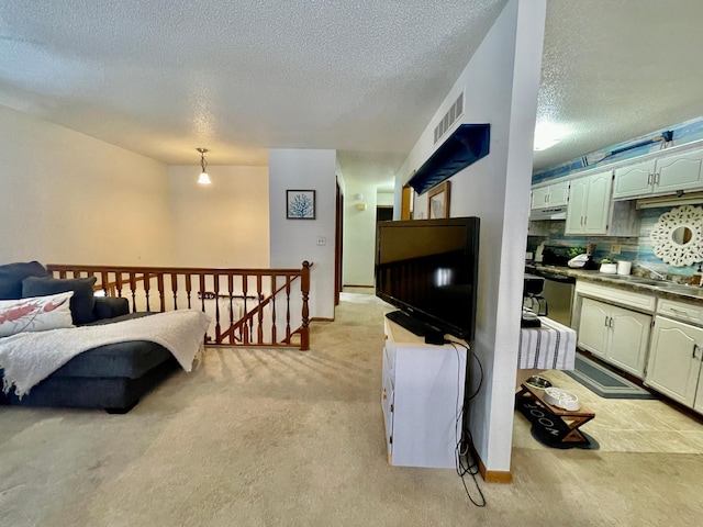
<path id="1" fill-rule="evenodd" d="M 310 316 L 334 318 L 334 236 L 336 152 L 279 148 L 269 150 L 270 265 L 311 270 Z M 315 190 L 315 220 L 287 220 L 286 191 Z M 346 186 L 348 194 L 348 182 Z M 317 245 L 324 237 L 326 245 Z"/>

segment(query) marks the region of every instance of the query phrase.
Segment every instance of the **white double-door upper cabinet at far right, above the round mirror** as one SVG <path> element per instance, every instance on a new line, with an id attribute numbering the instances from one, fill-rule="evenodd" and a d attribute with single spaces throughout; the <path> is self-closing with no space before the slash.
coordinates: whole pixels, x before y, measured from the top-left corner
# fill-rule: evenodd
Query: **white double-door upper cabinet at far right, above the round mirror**
<path id="1" fill-rule="evenodd" d="M 703 148 L 660 155 L 615 169 L 614 200 L 703 190 Z"/>

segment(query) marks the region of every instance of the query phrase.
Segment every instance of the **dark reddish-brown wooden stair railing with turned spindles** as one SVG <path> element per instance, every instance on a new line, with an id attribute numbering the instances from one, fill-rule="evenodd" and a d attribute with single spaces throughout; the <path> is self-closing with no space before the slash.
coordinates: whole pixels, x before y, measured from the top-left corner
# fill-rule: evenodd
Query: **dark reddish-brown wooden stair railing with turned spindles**
<path id="1" fill-rule="evenodd" d="M 132 312 L 199 309 L 212 318 L 207 345 L 301 350 L 310 349 L 311 267 L 308 261 L 300 269 L 46 266 L 58 278 L 94 277 L 96 291 L 126 298 Z M 158 299 L 153 298 L 156 294 Z"/>

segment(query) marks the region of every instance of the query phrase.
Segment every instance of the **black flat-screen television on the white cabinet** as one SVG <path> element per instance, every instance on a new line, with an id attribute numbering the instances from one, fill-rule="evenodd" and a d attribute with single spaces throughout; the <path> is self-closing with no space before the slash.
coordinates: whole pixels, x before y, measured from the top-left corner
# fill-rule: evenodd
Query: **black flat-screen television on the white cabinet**
<path id="1" fill-rule="evenodd" d="M 400 310 L 387 316 L 426 338 L 472 340 L 479 227 L 475 216 L 379 222 L 376 295 Z"/>

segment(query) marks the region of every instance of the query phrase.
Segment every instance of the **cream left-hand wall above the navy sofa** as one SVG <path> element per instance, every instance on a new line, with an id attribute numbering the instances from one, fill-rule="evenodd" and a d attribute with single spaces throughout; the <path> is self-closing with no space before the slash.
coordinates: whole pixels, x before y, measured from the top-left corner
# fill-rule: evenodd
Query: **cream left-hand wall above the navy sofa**
<path id="1" fill-rule="evenodd" d="M 0 264 L 171 265 L 166 166 L 0 106 Z"/>

